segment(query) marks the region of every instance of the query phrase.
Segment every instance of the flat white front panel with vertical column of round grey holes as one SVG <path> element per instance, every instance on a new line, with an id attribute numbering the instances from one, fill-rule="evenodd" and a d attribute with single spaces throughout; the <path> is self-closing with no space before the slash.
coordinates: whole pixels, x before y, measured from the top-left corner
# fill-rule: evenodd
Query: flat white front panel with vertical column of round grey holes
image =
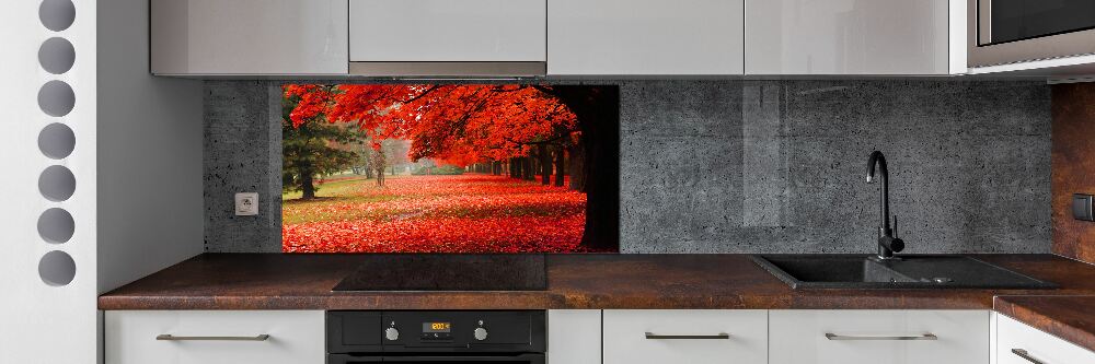
<path id="1" fill-rule="evenodd" d="M 95 0 L 72 0 L 76 21 L 60 32 L 38 20 L 41 1 L 4 1 L 0 11 L 0 363 L 94 363 L 97 293 L 95 235 Z M 39 67 L 38 46 L 64 37 L 76 49 L 73 67 L 51 74 Z M 37 106 L 37 93 L 47 81 L 71 85 L 72 110 L 48 116 Z M 72 129 L 72 154 L 51 160 L 39 152 L 38 132 L 50 122 Z M 54 202 L 38 191 L 44 168 L 59 165 L 76 177 L 72 196 Z M 35 227 L 49 208 L 71 213 L 76 228 L 64 244 L 46 243 Z M 38 274 L 46 253 L 72 257 L 74 279 L 65 285 L 46 284 Z"/>

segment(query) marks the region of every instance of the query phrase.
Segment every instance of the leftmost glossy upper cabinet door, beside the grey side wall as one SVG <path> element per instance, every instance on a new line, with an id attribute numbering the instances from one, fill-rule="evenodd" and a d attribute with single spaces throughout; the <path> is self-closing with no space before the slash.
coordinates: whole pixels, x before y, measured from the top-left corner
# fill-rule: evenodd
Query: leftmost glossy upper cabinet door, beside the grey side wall
<path id="1" fill-rule="evenodd" d="M 347 72 L 347 0 L 151 1 L 152 73 Z"/>

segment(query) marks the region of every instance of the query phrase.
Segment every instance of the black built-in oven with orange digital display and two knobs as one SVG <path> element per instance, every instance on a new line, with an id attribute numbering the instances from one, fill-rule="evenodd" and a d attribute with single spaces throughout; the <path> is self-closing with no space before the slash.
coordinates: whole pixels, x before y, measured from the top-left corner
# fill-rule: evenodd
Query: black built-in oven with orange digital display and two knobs
<path id="1" fill-rule="evenodd" d="M 543 310 L 332 310 L 327 364 L 544 364 Z"/>

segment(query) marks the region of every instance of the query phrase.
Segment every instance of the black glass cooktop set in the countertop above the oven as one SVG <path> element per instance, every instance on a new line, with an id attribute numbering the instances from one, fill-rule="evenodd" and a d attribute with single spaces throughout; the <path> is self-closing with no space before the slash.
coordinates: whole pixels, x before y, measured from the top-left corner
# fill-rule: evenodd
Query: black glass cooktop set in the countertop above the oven
<path id="1" fill-rule="evenodd" d="M 332 291 L 543 291 L 543 255 L 366 255 Z"/>

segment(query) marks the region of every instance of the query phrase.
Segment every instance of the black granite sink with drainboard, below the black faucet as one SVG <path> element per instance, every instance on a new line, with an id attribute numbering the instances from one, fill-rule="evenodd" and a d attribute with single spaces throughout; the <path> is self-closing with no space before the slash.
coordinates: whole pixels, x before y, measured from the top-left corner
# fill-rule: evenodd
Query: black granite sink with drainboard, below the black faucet
<path id="1" fill-rule="evenodd" d="M 966 256 L 758 255 L 753 261 L 795 290 L 1056 289 L 1057 284 Z"/>

